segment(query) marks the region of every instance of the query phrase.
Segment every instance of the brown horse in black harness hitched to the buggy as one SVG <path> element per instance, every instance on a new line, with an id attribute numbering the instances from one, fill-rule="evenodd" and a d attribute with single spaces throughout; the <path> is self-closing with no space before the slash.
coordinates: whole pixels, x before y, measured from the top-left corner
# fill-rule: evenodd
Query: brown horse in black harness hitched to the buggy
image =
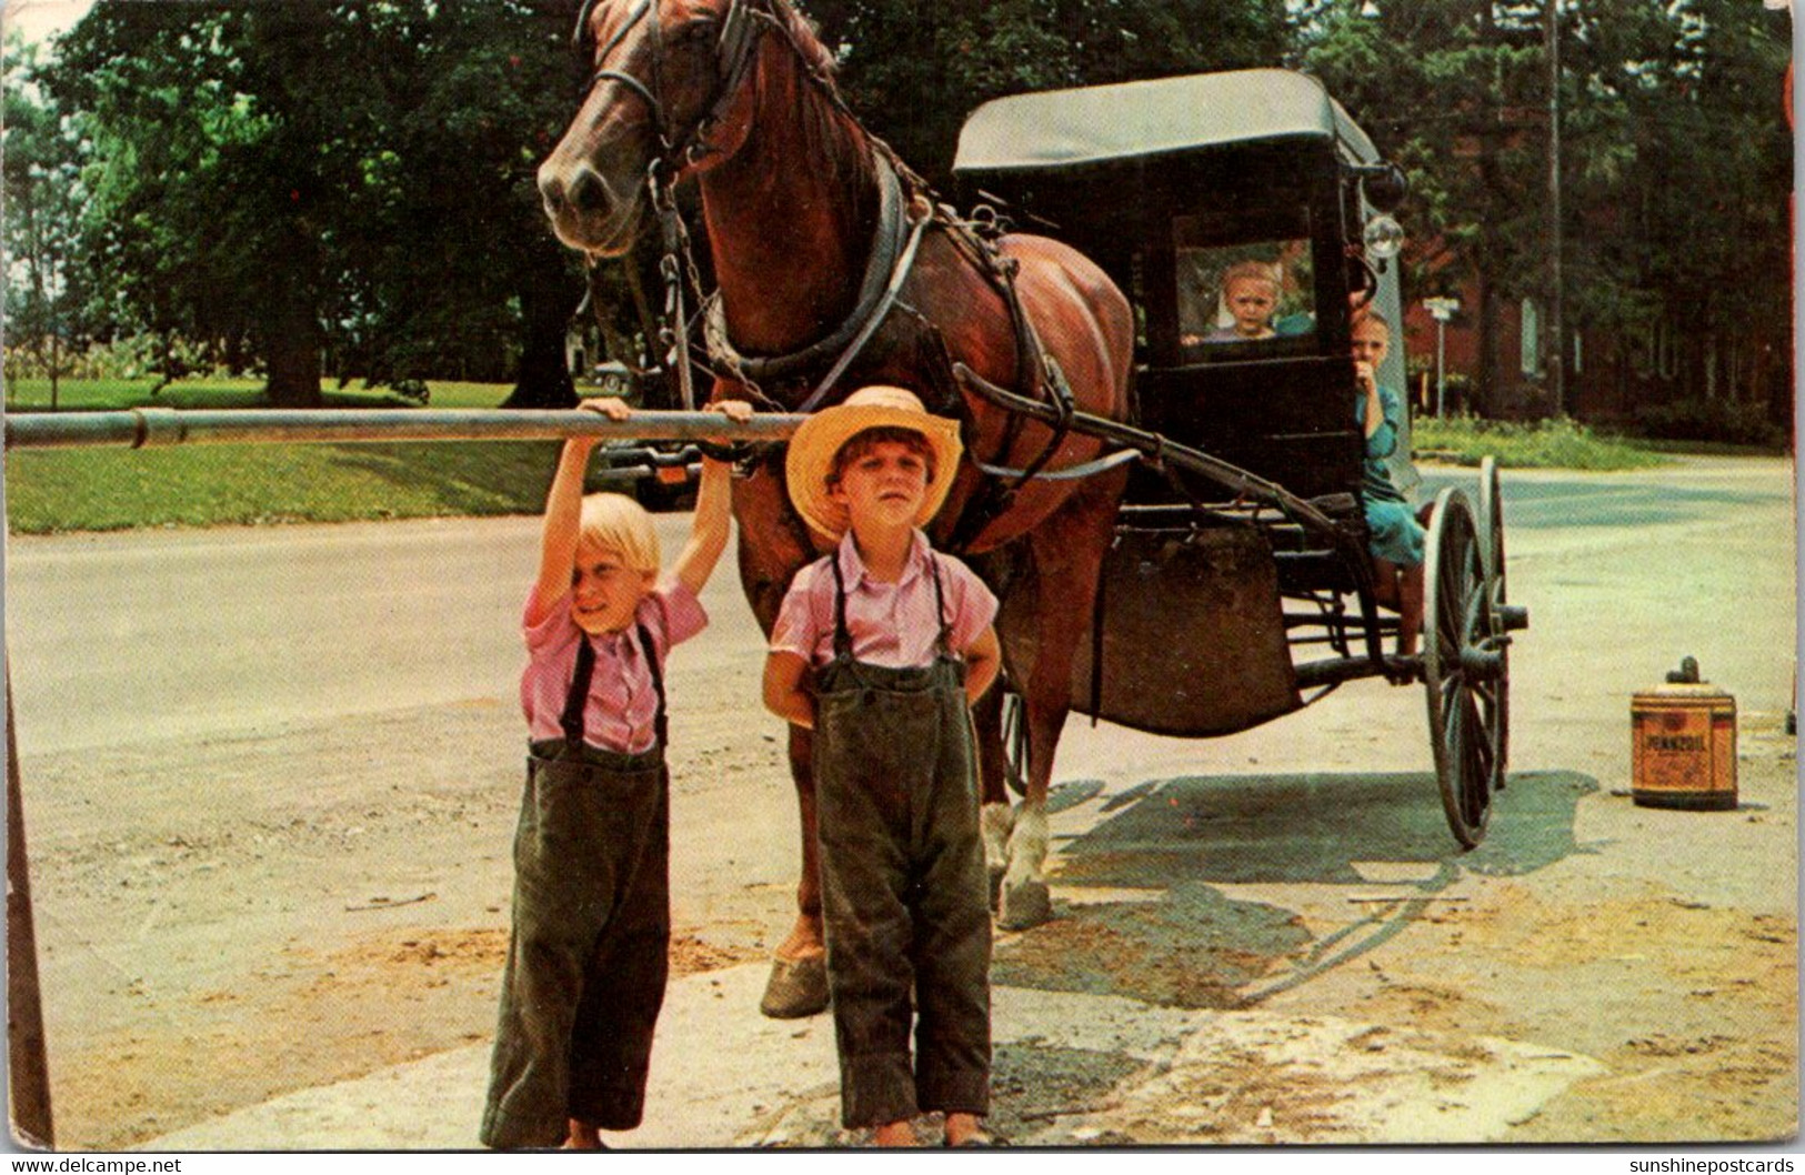
<path id="1" fill-rule="evenodd" d="M 715 397 L 807 412 L 886 383 L 962 422 L 967 460 L 931 536 L 978 556 L 1004 597 L 998 630 L 1025 700 L 1029 769 L 1025 801 L 1011 812 L 993 691 L 978 713 L 986 852 L 1000 922 L 1045 921 L 1047 782 L 1126 471 L 1074 480 L 980 471 L 975 462 L 1065 469 L 1094 458 L 1099 442 L 987 406 L 953 365 L 1041 397 L 1063 374 L 1070 406 L 1123 419 L 1126 298 L 1067 245 L 982 240 L 937 208 L 847 110 L 830 54 L 787 0 L 590 0 L 578 40 L 594 74 L 540 168 L 547 213 L 567 245 L 616 256 L 659 215 L 661 193 L 697 179 L 718 282 Z M 662 208 L 670 227 L 675 211 Z M 791 576 L 827 547 L 791 509 L 782 458 L 753 462 L 733 505 L 740 574 L 769 632 Z M 827 1004 L 809 740 L 791 729 L 803 866 L 798 921 L 764 1002 L 774 1016 Z"/>

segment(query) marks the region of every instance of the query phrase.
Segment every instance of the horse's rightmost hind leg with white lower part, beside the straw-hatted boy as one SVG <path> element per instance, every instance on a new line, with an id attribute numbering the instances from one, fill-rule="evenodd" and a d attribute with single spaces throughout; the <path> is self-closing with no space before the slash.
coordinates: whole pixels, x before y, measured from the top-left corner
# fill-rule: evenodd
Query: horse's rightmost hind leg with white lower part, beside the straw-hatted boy
<path id="1" fill-rule="evenodd" d="M 1027 720 L 1027 796 L 1009 836 L 996 924 L 1025 930 L 1052 917 L 1043 870 L 1047 865 L 1047 785 L 1065 715 L 1072 708 L 1072 662 L 1090 626 L 1097 576 L 1115 527 L 1126 473 L 1092 478 L 1065 507 L 1036 527 L 1034 552 L 1034 664 L 1023 682 Z"/>

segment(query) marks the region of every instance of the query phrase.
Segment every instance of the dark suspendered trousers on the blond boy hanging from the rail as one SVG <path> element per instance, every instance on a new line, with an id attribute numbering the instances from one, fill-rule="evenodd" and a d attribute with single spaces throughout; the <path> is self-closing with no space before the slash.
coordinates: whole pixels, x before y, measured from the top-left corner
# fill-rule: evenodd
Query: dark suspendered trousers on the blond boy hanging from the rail
<path id="1" fill-rule="evenodd" d="M 670 966 L 670 792 L 664 675 L 644 625 L 637 637 L 659 699 L 652 749 L 621 754 L 583 742 L 596 666 L 588 635 L 565 699 L 565 736 L 531 744 L 484 1146 L 558 1146 L 570 1117 L 630 1130 L 644 1110 Z"/>

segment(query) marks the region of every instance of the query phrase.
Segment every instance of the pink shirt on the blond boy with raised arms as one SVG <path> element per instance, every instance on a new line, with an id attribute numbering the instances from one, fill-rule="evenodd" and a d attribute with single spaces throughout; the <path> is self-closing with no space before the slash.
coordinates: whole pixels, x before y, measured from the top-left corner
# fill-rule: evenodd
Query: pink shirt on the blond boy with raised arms
<path id="1" fill-rule="evenodd" d="M 527 596 L 527 608 L 532 597 Z M 673 644 L 680 644 L 708 626 L 708 614 L 695 592 L 680 581 L 659 583 L 639 601 L 634 619 L 652 634 L 652 646 L 664 664 Z M 529 738 L 563 738 L 565 695 L 576 673 L 576 648 L 583 630 L 570 619 L 569 592 L 560 596 L 538 625 L 527 625 L 527 671 L 520 675 L 520 708 L 527 713 Z M 588 680 L 583 708 L 583 742 L 603 751 L 637 754 L 657 742 L 652 722 L 659 697 L 652 686 L 652 668 L 639 652 L 639 632 L 628 625 L 621 632 L 590 637 L 596 671 Z"/>

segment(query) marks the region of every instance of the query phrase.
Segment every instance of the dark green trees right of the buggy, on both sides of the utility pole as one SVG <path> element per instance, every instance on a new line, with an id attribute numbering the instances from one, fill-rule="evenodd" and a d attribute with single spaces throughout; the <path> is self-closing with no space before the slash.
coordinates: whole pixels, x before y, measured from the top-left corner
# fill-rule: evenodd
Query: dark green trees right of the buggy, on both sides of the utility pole
<path id="1" fill-rule="evenodd" d="M 1567 328 L 1628 357 L 1643 339 L 1675 352 L 1675 377 L 1652 381 L 1662 395 L 1740 393 L 1783 419 L 1787 13 L 1740 0 L 1560 0 L 1558 13 Z M 1545 14 L 1545 0 L 1300 11 L 1298 61 L 1412 175 L 1426 242 L 1412 287 L 1478 291 L 1480 408 L 1500 406 L 1500 307 L 1549 292 Z"/>

